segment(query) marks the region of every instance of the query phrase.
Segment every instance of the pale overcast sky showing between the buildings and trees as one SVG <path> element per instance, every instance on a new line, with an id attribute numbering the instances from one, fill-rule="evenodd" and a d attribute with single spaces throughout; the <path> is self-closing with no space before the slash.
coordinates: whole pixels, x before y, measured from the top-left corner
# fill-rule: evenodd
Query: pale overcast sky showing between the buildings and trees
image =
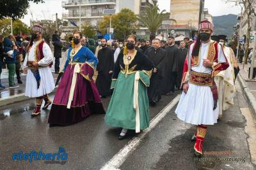
<path id="1" fill-rule="evenodd" d="M 55 20 L 55 13 L 58 13 L 58 18 L 61 17 L 61 13 L 65 12 L 64 8 L 61 7 L 62 0 L 44 0 L 43 4 L 30 3 L 28 15 L 22 18 L 22 21 L 27 25 L 29 20 L 44 20 L 51 19 Z M 129 1 L 129 0 L 127 0 Z M 158 0 L 159 8 L 161 10 L 170 11 L 170 0 Z M 220 16 L 227 14 L 238 14 L 241 11 L 239 6 L 234 6 L 234 3 L 225 3 L 225 0 L 205 0 L 205 8 L 209 10 L 212 16 Z M 31 14 L 32 13 L 32 14 Z"/>

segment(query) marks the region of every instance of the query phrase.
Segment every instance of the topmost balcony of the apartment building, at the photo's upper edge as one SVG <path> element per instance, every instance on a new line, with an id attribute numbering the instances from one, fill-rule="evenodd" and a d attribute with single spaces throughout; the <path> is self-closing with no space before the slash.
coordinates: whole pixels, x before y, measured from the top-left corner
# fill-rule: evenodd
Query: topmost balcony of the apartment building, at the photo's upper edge
<path id="1" fill-rule="evenodd" d="M 93 6 L 93 5 L 104 5 L 104 4 L 116 4 L 115 0 L 81 0 L 81 6 Z M 61 6 L 63 8 L 69 7 L 78 7 L 79 1 L 74 1 L 74 3 L 70 3 L 68 1 L 62 1 Z"/>

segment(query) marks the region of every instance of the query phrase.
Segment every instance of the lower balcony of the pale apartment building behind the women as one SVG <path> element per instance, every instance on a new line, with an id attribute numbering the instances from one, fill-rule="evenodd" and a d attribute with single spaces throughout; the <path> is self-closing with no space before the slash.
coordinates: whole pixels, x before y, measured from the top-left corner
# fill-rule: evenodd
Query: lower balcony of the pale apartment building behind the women
<path id="1" fill-rule="evenodd" d="M 100 18 L 103 17 L 102 12 L 97 12 L 97 13 L 81 13 L 81 18 Z M 62 18 L 63 19 L 72 19 L 72 18 L 79 18 L 79 13 L 62 13 Z"/>

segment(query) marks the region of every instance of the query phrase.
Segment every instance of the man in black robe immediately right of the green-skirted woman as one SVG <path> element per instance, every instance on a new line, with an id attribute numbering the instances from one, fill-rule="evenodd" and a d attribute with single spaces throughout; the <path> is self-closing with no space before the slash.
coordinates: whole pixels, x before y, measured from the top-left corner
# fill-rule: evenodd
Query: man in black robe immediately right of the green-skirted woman
<path id="1" fill-rule="evenodd" d="M 166 59 L 166 50 L 161 48 L 160 40 L 154 39 L 154 48 L 148 50 L 148 59 L 153 62 L 154 69 L 150 78 L 148 87 L 148 101 L 151 106 L 156 106 L 157 101 L 161 99 L 161 81 L 163 81 L 164 64 Z"/>

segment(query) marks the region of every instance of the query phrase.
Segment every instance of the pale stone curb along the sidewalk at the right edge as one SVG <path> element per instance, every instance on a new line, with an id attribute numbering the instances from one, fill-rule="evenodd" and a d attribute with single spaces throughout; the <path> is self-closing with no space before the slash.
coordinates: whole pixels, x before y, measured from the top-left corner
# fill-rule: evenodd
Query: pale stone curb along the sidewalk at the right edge
<path id="1" fill-rule="evenodd" d="M 250 89 L 247 87 L 246 82 L 244 81 L 240 73 L 238 73 L 237 77 L 241 85 L 241 89 L 243 89 L 246 101 L 248 102 L 249 107 L 251 108 L 252 113 L 254 115 L 254 118 L 256 119 L 256 99 L 253 96 L 252 92 L 250 92 Z"/>

